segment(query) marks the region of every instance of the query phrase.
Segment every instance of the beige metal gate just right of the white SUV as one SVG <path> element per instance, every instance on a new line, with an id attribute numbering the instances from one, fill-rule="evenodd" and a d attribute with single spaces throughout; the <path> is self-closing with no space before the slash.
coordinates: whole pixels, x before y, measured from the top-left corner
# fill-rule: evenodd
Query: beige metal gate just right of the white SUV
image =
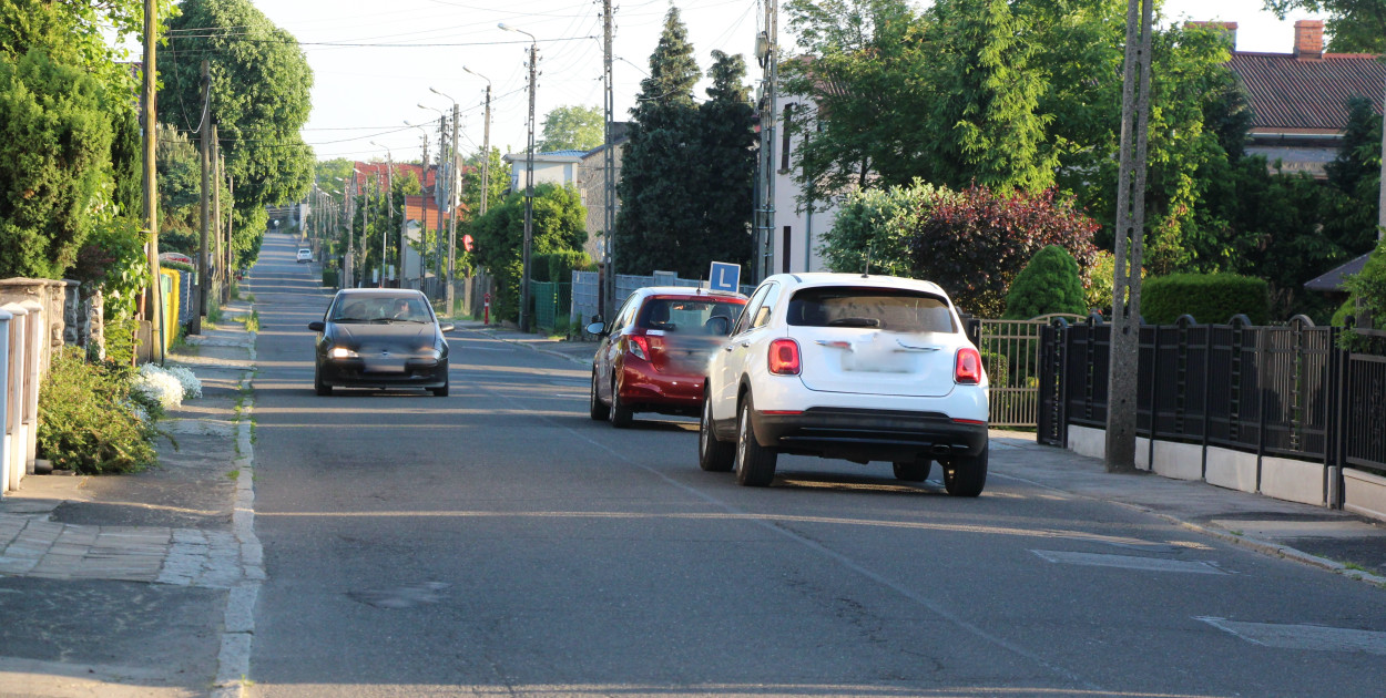
<path id="1" fill-rule="evenodd" d="M 967 338 L 987 368 L 992 427 L 1040 425 L 1041 334 L 1053 320 L 1082 316 L 1055 313 L 1031 320 L 967 320 Z M 1055 379 L 1055 378 L 1051 378 Z"/>

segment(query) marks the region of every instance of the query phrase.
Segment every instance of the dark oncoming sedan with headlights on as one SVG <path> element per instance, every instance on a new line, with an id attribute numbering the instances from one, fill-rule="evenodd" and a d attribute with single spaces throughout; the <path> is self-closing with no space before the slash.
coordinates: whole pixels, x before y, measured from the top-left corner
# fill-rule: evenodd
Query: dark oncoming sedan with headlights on
<path id="1" fill-rule="evenodd" d="M 333 388 L 426 388 L 448 395 L 450 324 L 438 324 L 419 291 L 346 288 L 319 323 L 313 391 Z"/>

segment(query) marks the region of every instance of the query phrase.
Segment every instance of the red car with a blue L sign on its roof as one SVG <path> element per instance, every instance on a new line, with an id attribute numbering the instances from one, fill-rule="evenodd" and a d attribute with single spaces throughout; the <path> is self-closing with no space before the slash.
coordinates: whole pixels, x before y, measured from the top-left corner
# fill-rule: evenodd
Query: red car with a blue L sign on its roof
<path id="1" fill-rule="evenodd" d="M 635 413 L 685 414 L 703 409 L 707 359 L 722 345 L 746 296 L 685 287 L 642 288 L 615 320 L 592 323 L 592 418 L 628 427 Z"/>

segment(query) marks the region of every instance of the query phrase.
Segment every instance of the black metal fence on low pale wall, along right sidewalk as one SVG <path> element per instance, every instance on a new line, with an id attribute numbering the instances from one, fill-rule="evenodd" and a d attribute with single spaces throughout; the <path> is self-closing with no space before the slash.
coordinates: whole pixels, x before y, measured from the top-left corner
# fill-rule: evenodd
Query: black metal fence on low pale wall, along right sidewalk
<path id="1" fill-rule="evenodd" d="M 1152 450 L 1159 439 L 1386 469 L 1386 334 L 1350 352 L 1342 332 L 1303 316 L 1142 325 L 1137 433 Z M 1106 428 L 1110 337 L 1099 317 L 1044 330 L 1040 442 L 1064 445 L 1069 425 Z"/>

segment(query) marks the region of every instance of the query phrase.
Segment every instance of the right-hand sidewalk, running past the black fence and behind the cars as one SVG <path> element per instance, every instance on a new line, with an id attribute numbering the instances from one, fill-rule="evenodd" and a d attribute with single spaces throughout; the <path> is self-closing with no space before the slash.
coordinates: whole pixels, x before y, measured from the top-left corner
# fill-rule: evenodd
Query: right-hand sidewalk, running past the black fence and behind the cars
<path id="1" fill-rule="evenodd" d="M 592 366 L 596 342 L 550 339 L 514 328 L 456 323 L 575 364 Z M 1386 589 L 1386 525 L 1344 511 L 1281 501 L 1149 472 L 1112 474 L 1098 458 L 1041 446 L 1034 433 L 992 429 L 991 476 L 1146 511 L 1268 555 L 1319 566 Z"/>

